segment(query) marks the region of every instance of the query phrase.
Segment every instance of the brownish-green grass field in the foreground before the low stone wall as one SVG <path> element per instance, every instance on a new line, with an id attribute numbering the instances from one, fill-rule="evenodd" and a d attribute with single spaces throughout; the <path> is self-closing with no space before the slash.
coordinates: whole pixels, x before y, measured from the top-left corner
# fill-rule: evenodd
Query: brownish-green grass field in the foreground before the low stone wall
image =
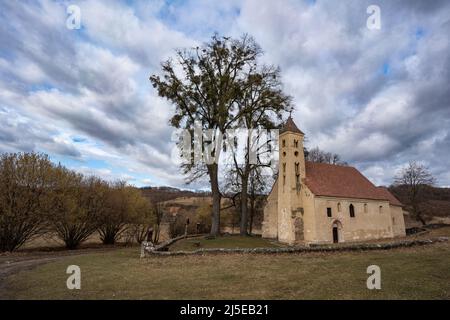
<path id="1" fill-rule="evenodd" d="M 450 228 L 438 233 L 448 235 Z M 189 246 L 185 242 L 178 245 Z M 66 288 L 71 264 L 81 268 L 81 290 Z M 372 264 L 381 268 L 381 290 L 366 288 Z M 122 248 L 67 256 L 13 274 L 5 289 L 13 299 L 450 299 L 450 244 L 142 260 L 139 248 Z"/>

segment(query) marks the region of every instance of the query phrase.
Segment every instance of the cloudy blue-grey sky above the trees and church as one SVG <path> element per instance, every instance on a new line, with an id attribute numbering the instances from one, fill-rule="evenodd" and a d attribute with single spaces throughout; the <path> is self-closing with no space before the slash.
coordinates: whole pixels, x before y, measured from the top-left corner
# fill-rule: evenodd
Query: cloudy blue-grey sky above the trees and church
<path id="1" fill-rule="evenodd" d="M 184 187 L 173 109 L 148 77 L 175 48 L 248 33 L 280 66 L 307 147 L 376 184 L 417 160 L 450 186 L 450 1 L 1 1 L 0 21 L 0 152 Z"/>

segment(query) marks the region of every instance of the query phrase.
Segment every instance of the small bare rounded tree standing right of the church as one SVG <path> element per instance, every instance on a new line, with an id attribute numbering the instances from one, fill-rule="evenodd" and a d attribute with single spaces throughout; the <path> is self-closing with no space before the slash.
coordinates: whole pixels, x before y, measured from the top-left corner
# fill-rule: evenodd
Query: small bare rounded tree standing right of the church
<path id="1" fill-rule="evenodd" d="M 416 220 L 426 224 L 424 212 L 420 208 L 423 201 L 423 190 L 426 186 L 435 183 L 435 178 L 424 165 L 411 161 L 408 166 L 401 169 L 394 179 L 394 185 L 407 189 L 408 207 Z"/>

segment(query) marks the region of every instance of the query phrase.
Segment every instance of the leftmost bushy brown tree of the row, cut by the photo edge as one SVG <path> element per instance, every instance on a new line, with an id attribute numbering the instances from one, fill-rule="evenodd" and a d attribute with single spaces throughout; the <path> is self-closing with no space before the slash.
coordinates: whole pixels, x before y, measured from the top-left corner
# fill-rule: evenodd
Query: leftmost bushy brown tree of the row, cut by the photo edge
<path id="1" fill-rule="evenodd" d="M 0 157 L 0 251 L 13 251 L 47 231 L 53 165 L 39 153 Z"/>

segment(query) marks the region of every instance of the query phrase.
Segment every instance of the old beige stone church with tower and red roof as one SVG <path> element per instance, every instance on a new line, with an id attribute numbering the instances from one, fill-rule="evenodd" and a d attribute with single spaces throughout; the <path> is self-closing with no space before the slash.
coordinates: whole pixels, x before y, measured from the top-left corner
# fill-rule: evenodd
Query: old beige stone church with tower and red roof
<path id="1" fill-rule="evenodd" d="M 289 244 L 405 235 L 402 204 L 349 166 L 305 161 L 304 134 L 288 118 L 279 135 L 279 172 L 264 208 L 262 236 Z"/>

